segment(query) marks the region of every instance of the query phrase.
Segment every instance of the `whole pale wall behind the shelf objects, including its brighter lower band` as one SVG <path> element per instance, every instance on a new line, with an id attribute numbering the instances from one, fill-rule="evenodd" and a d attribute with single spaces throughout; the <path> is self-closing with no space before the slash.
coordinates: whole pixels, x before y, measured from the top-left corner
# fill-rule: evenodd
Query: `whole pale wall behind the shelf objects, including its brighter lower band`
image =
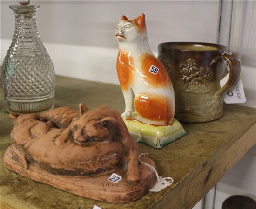
<path id="1" fill-rule="evenodd" d="M 49 52 L 56 74 L 118 84 L 115 26 L 124 14 L 135 18 L 145 13 L 149 45 L 167 41 L 216 43 L 220 1 L 61 1 L 32 0 L 40 37 Z M 0 61 L 14 31 L 17 1 L 1 1 Z"/>

